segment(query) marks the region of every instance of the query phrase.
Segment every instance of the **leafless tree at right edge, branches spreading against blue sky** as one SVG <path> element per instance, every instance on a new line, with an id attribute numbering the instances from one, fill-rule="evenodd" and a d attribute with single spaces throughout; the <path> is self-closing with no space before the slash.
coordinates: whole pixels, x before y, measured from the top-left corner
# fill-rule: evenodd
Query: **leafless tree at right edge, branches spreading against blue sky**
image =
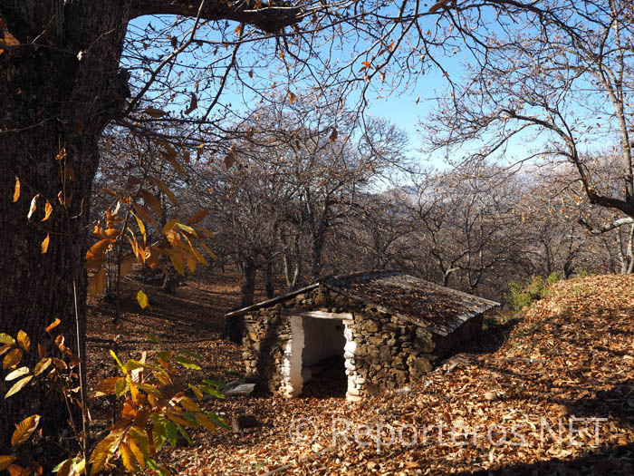
<path id="1" fill-rule="evenodd" d="M 567 163 L 585 200 L 617 213 L 602 225 L 591 224 L 600 217 L 581 216 L 581 224 L 594 234 L 632 224 L 632 3 L 540 6 L 531 4 L 513 21 L 496 18 L 467 42 L 474 61 L 424 122 L 427 147 L 466 161 Z M 472 21 L 486 13 L 473 10 Z M 618 157 L 616 188 L 599 173 L 607 147 Z"/>

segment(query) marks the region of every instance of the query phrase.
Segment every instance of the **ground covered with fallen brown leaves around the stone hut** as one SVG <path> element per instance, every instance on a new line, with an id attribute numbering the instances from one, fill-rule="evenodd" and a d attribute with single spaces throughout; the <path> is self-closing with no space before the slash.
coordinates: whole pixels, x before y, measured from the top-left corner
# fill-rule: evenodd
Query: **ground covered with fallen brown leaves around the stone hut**
<path id="1" fill-rule="evenodd" d="M 217 339 L 238 301 L 236 277 L 190 282 L 175 296 L 144 288 L 151 310 L 127 289 L 121 354 L 155 348 L 151 331 L 203 355 L 201 377 L 239 379 L 239 347 Z M 110 372 L 112 309 L 91 303 L 93 384 Z M 161 461 L 180 474 L 633 474 L 634 277 L 557 283 L 519 323 L 493 327 L 404 390 L 362 403 L 209 401 L 228 421 L 251 413 L 262 425 L 197 433 L 194 447 L 168 448 Z"/>

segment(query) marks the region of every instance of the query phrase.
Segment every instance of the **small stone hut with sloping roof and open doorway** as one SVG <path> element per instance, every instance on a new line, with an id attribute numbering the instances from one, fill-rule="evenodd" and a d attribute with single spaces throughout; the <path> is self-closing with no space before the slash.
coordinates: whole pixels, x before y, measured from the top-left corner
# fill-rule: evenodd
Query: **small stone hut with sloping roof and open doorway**
<path id="1" fill-rule="evenodd" d="M 226 317 L 244 316 L 246 375 L 264 388 L 299 395 L 315 364 L 343 355 L 346 397 L 358 401 L 418 380 L 478 338 L 494 306 L 400 271 L 374 271 L 324 277 Z"/>

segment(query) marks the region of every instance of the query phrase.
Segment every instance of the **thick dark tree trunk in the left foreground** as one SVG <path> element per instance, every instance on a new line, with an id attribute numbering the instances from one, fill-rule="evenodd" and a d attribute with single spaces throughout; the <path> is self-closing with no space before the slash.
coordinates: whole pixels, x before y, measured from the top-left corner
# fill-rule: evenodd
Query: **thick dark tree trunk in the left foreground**
<path id="1" fill-rule="evenodd" d="M 83 345 L 87 278 L 82 264 L 89 197 L 99 162 L 99 135 L 111 112 L 120 110 L 125 99 L 121 94 L 125 78 L 118 73 L 118 63 L 128 17 L 121 2 L 107 0 L 9 0 L 0 6 L 0 15 L 20 42 L 19 47 L 0 54 L 0 151 L 5 157 L 0 168 L 0 240 L 5 250 L 0 253 L 0 332 L 16 335 L 22 329 L 30 335 L 32 350 L 23 362 L 33 365 L 36 344 L 46 345 L 53 353 L 44 328 L 56 317 L 62 325 L 54 335 L 65 335 L 74 353 Z M 103 35 L 108 41 L 99 41 Z M 33 43 L 36 38 L 38 45 Z M 13 203 L 16 177 L 22 187 Z M 66 200 L 68 209 L 58 199 L 64 188 L 66 196 L 72 196 Z M 36 195 L 37 210 L 29 220 L 29 204 Z M 53 214 L 41 221 L 46 200 L 53 205 Z M 43 254 L 41 243 L 47 234 L 50 243 Z M 73 282 L 78 294 L 79 344 Z M 3 396 L 7 384 L 0 380 Z M 3 401 L 0 453 L 10 452 L 14 424 L 33 413 L 42 415 L 43 435 L 59 440 L 69 415 L 57 395 L 43 391 L 43 386 L 27 386 Z M 26 461 L 40 459 L 50 468 L 67 457 L 55 442 L 43 445 L 38 455 L 27 445 Z M 72 447 L 73 454 L 77 450 L 78 446 Z"/>

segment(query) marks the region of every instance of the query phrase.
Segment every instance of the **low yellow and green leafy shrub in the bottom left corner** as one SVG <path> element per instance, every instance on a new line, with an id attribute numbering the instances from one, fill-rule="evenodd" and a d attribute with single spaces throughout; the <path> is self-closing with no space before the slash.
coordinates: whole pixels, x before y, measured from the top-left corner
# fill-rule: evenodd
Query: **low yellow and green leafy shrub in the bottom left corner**
<path id="1" fill-rule="evenodd" d="M 46 332 L 51 335 L 53 328 L 59 324 L 60 320 L 55 319 L 46 328 Z M 51 338 L 53 339 L 53 335 Z M 10 371 L 5 380 L 16 381 L 5 394 L 5 398 L 20 392 L 27 384 L 33 386 L 34 382 L 43 380 L 53 391 L 63 396 L 69 412 L 71 405 L 81 405 L 72 396 L 72 387 L 78 378 L 74 369 L 80 360 L 63 342 L 62 335 L 55 337 L 56 354 L 46 355 L 44 347 L 32 345 L 31 339 L 23 331 L 15 338 L 0 333 L 0 355 L 5 355 L 3 368 Z M 18 367 L 24 354 L 33 352 L 34 348 L 37 348 L 40 357 L 34 368 L 25 365 Z M 204 380 L 197 385 L 187 384 L 178 372 L 178 367 L 201 370 L 202 356 L 185 350 L 167 350 L 156 352 L 153 358 L 149 358 L 143 352 L 139 360 L 130 359 L 123 363 L 111 350 L 110 355 L 117 363 L 119 375 L 102 380 L 91 398 L 115 395 L 120 402 L 119 420 L 96 443 L 90 457 L 87 451 L 82 450 L 83 454 L 60 462 L 53 469 L 58 476 L 83 473 L 92 475 L 115 469 L 138 473 L 146 468 L 159 474 L 168 474 L 168 468 L 160 467 L 155 459 L 166 443 L 175 446 L 179 436 L 191 443 L 187 429 L 201 428 L 215 432 L 217 426 L 227 427 L 216 414 L 205 412 L 197 403 L 205 393 L 224 398 L 218 391 L 222 384 L 211 380 Z M 27 443 L 37 445 L 42 436 L 36 430 L 40 418 L 45 417 L 46 415 L 34 414 L 18 423 L 11 437 L 12 448 L 17 449 Z M 82 442 L 87 436 L 81 434 L 74 425 L 72 430 L 78 442 Z M 0 455 L 0 471 L 6 469 L 11 474 L 23 474 L 30 473 L 31 468 L 35 473 L 43 472 L 37 461 L 20 461 L 20 464 L 26 463 L 26 467 L 19 466 L 15 461 L 18 461 L 16 454 Z"/>

